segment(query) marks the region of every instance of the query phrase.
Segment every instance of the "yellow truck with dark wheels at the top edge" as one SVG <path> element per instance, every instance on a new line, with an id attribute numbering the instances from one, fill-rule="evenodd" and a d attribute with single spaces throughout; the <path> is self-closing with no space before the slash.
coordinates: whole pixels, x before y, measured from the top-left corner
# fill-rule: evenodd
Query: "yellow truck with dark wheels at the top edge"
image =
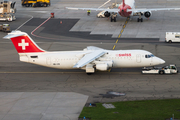
<path id="1" fill-rule="evenodd" d="M 47 7 L 50 6 L 50 0 L 21 0 L 25 7 Z"/>

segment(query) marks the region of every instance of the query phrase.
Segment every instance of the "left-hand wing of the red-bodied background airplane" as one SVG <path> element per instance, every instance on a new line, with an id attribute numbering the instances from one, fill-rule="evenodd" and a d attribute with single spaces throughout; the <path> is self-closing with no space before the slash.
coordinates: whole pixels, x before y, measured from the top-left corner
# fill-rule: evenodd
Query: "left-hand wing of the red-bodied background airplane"
<path id="1" fill-rule="evenodd" d="M 66 9 L 70 10 L 94 10 L 94 11 L 108 11 L 108 12 L 118 12 L 118 9 L 107 9 L 107 8 L 73 8 L 73 7 L 66 7 Z"/>

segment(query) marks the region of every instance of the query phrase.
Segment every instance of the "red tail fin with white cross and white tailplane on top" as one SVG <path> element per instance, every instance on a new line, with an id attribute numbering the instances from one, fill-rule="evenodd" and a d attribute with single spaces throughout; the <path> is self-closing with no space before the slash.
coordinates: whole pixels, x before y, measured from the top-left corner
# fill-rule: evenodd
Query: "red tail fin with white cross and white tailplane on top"
<path id="1" fill-rule="evenodd" d="M 11 39 L 18 53 L 44 52 L 25 32 L 13 31 L 4 38 Z"/>

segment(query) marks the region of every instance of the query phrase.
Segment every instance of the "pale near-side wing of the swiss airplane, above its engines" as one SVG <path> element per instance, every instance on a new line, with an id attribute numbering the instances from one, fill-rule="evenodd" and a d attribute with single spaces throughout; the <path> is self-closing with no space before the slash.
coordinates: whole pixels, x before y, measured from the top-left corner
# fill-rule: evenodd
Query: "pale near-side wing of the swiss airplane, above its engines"
<path id="1" fill-rule="evenodd" d="M 73 68 L 80 68 L 83 67 L 85 65 L 87 65 L 88 63 L 92 62 L 93 60 L 101 57 L 102 55 L 104 55 L 106 53 L 106 51 L 104 50 L 95 50 L 89 54 L 86 54 L 83 58 L 81 58 L 74 66 Z"/>

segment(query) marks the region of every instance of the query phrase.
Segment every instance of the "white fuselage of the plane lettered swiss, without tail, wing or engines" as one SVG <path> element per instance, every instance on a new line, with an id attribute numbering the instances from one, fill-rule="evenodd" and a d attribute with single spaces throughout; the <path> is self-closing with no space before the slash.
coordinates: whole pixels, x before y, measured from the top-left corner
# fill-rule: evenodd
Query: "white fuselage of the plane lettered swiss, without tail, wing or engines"
<path id="1" fill-rule="evenodd" d="M 87 53 L 87 51 L 62 51 L 62 52 L 41 52 L 41 53 L 20 53 L 20 60 L 33 64 L 57 69 L 73 69 L 73 66 Z M 123 67 L 148 67 L 162 64 L 163 60 L 158 57 L 145 56 L 152 53 L 144 50 L 106 50 L 107 54 L 99 57 L 91 64 L 97 62 L 113 61 L 113 68 Z M 81 69 L 84 69 L 82 67 Z"/>

